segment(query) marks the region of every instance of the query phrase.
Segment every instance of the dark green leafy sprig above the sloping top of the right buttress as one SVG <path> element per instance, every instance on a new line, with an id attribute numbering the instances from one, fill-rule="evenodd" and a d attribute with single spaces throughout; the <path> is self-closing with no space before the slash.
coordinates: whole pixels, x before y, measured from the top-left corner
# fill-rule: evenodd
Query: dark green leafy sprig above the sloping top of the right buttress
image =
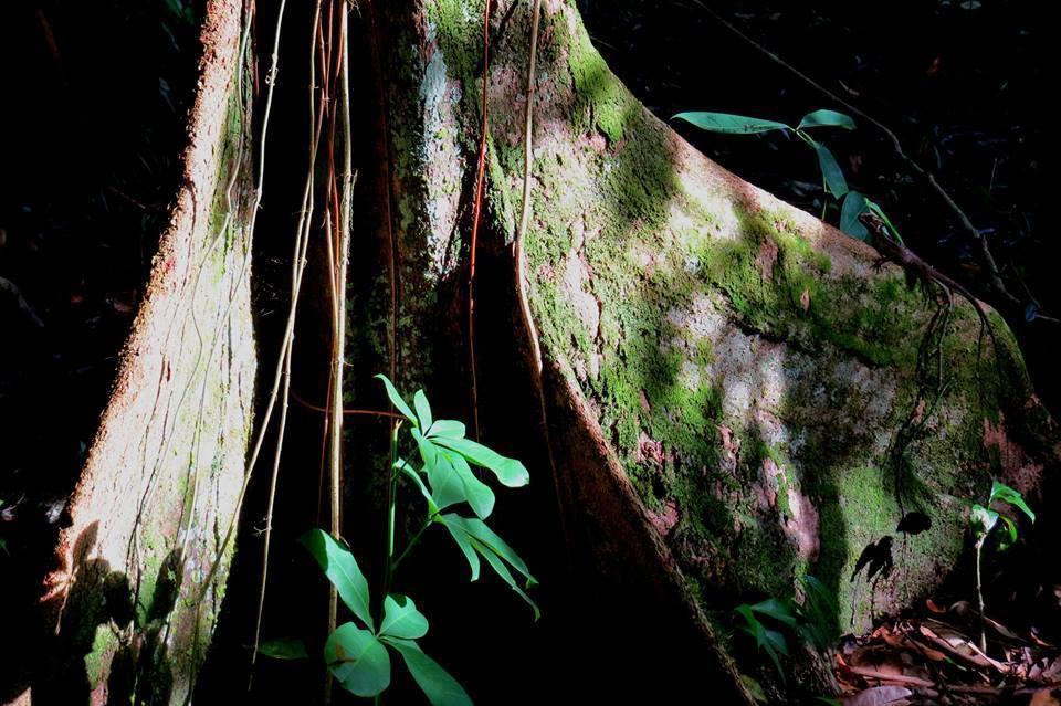
<path id="1" fill-rule="evenodd" d="M 826 219 L 829 209 L 828 194 L 840 202 L 840 230 L 852 238 L 862 241 L 869 241 L 871 234 L 865 225 L 859 220 L 863 213 L 873 213 L 891 231 L 892 238 L 902 243 L 903 239 L 899 231 L 892 224 L 884 211 L 875 202 L 865 198 L 862 193 L 848 187 L 848 180 L 843 176 L 843 170 L 832 151 L 815 139 L 808 130 L 821 127 L 839 127 L 847 130 L 855 129 L 854 120 L 849 115 L 836 110 L 813 110 L 800 119 L 799 125 L 792 127 L 777 120 L 766 120 L 745 115 L 733 115 L 729 113 L 679 113 L 675 119 L 685 120 L 695 125 L 702 130 L 708 133 L 721 133 L 724 135 L 757 135 L 781 130 L 786 135 L 791 133 L 801 139 L 808 147 L 815 150 L 818 156 L 818 166 L 821 169 L 821 188 L 824 191 L 821 204 L 821 219 Z"/>

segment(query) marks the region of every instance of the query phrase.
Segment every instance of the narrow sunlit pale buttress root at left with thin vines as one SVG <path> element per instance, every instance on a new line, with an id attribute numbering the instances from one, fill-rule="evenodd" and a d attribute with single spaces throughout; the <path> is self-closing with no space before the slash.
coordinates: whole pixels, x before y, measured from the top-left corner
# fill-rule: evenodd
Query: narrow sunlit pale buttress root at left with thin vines
<path id="1" fill-rule="evenodd" d="M 242 2 L 209 3 L 182 183 L 67 506 L 33 703 L 185 703 L 206 656 L 255 373 L 242 27 Z"/>

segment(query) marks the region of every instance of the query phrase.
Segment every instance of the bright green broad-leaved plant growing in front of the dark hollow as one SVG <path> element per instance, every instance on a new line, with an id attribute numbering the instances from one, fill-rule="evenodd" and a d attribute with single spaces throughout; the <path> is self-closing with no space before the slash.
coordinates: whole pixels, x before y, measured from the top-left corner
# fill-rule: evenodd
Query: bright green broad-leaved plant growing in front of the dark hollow
<path id="1" fill-rule="evenodd" d="M 413 397 L 413 412 L 390 380 L 381 375 L 376 377 L 386 387 L 391 403 L 405 420 L 408 420 L 409 433 L 421 463 L 418 466 L 398 455 L 398 431 L 402 422 L 397 423 L 390 440 L 384 599 L 375 615 L 368 580 L 353 552 L 321 529 L 311 530 L 300 540 L 321 565 L 339 598 L 357 619 L 339 625 L 328 636 L 324 645 L 324 660 L 343 688 L 357 696 L 376 697 L 390 685 L 390 651 L 393 651 L 402 657 L 413 681 L 431 704 L 470 706 L 472 702 L 464 688 L 417 644 L 417 640 L 428 633 L 428 619 L 417 609 L 411 598 L 390 591 L 391 580 L 423 533 L 431 527 L 442 526 L 468 560 L 473 581 L 479 578 L 481 558 L 485 559 L 497 576 L 530 605 L 537 619 L 538 608 L 524 590 L 536 583 L 536 580 L 523 559 L 483 521 L 494 509 L 494 493 L 479 480 L 471 466 L 491 471 L 496 480 L 507 487 L 526 485 L 529 475 L 518 461 L 502 456 L 465 438 L 463 423 L 433 419 L 431 405 L 422 390 Z M 406 477 L 423 497 L 426 516 L 423 525 L 409 539 L 401 554 L 396 556 L 396 496 L 399 477 Z M 474 516 L 443 513 L 447 508 L 460 504 L 466 504 Z M 514 573 L 519 575 L 522 580 L 517 581 Z M 305 644 L 297 640 L 267 642 L 260 646 L 259 652 L 287 660 L 306 658 L 309 654 Z"/>

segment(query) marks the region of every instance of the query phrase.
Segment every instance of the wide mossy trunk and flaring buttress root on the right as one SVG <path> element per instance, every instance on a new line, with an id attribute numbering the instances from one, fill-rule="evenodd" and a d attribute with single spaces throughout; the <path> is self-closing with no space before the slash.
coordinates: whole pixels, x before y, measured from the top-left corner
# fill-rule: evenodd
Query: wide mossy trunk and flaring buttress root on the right
<path id="1" fill-rule="evenodd" d="M 424 331 L 463 331 L 453 282 L 484 89 L 483 246 L 516 234 L 532 3 L 497 3 L 485 84 L 482 2 L 398 4 L 380 22 L 398 48 L 384 61 L 390 226 L 398 339 L 422 380 Z M 843 631 L 927 594 L 990 480 L 1036 498 L 1058 463 L 1006 324 L 989 315 L 991 345 L 967 303 L 697 154 L 609 72 L 574 3 L 545 0 L 539 36 L 525 274 L 574 539 L 606 572 L 654 562 L 731 675 L 712 626 L 808 573 L 837 593 Z M 852 581 L 914 510 L 932 527 L 896 541 L 892 577 Z"/>

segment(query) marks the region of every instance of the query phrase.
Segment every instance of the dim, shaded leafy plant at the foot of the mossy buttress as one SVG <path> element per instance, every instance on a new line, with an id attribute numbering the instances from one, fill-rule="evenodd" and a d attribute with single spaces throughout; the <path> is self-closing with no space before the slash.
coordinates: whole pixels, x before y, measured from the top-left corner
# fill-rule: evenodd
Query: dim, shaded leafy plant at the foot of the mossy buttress
<path id="1" fill-rule="evenodd" d="M 816 650 L 826 650 L 837 640 L 837 599 L 824 583 L 815 577 L 803 577 L 803 601 L 794 598 L 768 598 L 755 604 L 737 605 L 734 612 L 744 619 L 740 630 L 755 639 L 755 645 L 774 663 L 785 679 L 781 655 L 788 656 L 788 640 L 780 628 L 787 628 L 797 637 Z M 763 620 L 774 624 L 770 628 Z"/>

